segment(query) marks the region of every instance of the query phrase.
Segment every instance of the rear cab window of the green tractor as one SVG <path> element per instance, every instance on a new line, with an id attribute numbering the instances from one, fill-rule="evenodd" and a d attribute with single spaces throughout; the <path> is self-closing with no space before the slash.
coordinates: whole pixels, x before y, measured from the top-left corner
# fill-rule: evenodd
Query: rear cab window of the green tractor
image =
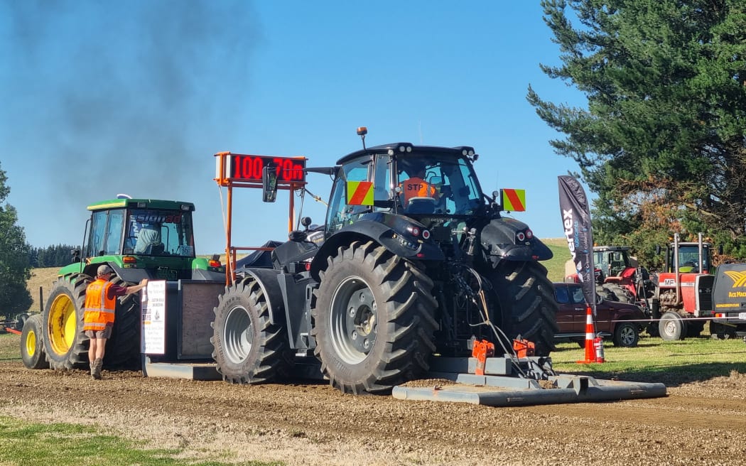
<path id="1" fill-rule="evenodd" d="M 192 212 L 160 209 L 130 210 L 125 251 L 144 256 L 194 257 Z"/>

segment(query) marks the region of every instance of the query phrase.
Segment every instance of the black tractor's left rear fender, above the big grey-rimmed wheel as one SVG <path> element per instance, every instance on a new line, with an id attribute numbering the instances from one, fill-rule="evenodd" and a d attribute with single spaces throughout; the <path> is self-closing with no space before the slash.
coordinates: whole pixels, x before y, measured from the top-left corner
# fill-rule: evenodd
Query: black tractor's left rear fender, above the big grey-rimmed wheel
<path id="1" fill-rule="evenodd" d="M 319 271 L 327 268 L 327 257 L 336 254 L 339 247 L 350 245 L 355 241 L 376 242 L 392 254 L 405 259 L 445 259 L 443 251 L 435 242 L 421 239 L 421 236 L 413 236 L 407 231 L 407 226 L 417 227 L 420 232 L 425 230 L 425 227 L 418 221 L 401 215 L 372 212 L 361 216 L 353 224 L 343 227 L 338 233 L 327 238 L 321 245 L 311 262 L 311 276 L 319 280 Z M 415 248 L 404 245 L 404 242 L 410 242 L 415 245 Z"/>

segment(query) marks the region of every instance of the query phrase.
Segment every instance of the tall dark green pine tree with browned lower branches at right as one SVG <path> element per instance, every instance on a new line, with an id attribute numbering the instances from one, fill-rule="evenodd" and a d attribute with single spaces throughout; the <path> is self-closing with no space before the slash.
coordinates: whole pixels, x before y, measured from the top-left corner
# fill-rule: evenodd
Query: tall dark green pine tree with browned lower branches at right
<path id="1" fill-rule="evenodd" d="M 554 104 L 531 87 L 527 98 L 565 133 L 551 145 L 598 195 L 596 239 L 650 252 L 673 232 L 703 231 L 746 253 L 745 2 L 542 7 L 562 60 L 542 70 L 576 86 L 588 105 Z"/>

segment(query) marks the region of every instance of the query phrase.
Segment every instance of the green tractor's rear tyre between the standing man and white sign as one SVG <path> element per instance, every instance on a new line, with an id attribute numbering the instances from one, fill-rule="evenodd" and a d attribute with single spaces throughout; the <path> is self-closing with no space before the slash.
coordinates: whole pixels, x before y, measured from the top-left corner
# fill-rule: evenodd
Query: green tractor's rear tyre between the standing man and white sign
<path id="1" fill-rule="evenodd" d="M 131 286 L 119 277 L 116 286 Z M 140 293 L 120 296 L 116 300 L 114 327 L 106 341 L 104 368 L 136 369 L 140 366 Z"/>

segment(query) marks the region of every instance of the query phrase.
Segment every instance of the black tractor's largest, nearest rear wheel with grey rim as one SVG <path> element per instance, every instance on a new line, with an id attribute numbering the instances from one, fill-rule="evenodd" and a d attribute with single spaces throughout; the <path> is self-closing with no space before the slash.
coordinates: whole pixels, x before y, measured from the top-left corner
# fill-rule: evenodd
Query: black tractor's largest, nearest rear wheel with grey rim
<path id="1" fill-rule="evenodd" d="M 353 242 L 320 277 L 311 335 L 330 385 L 387 394 L 427 373 L 437 302 L 420 268 L 374 242 Z"/>

